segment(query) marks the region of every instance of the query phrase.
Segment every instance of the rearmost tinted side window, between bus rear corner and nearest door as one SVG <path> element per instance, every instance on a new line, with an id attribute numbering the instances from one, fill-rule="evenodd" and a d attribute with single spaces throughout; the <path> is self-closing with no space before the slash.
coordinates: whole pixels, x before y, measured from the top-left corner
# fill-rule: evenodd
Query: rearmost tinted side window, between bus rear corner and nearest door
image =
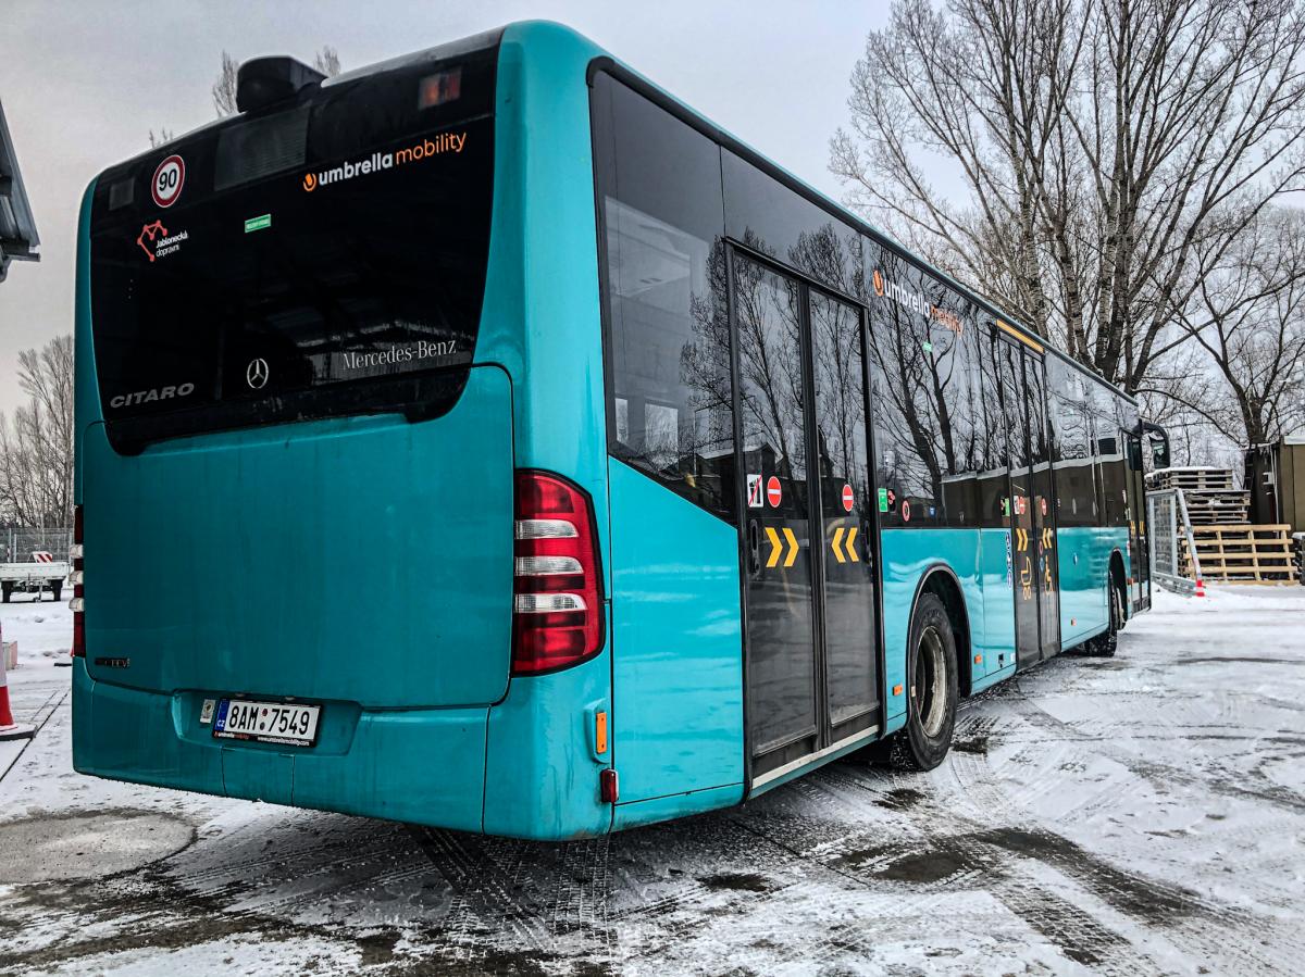
<path id="1" fill-rule="evenodd" d="M 732 519 L 733 407 L 719 147 L 594 80 L 613 455 Z"/>

